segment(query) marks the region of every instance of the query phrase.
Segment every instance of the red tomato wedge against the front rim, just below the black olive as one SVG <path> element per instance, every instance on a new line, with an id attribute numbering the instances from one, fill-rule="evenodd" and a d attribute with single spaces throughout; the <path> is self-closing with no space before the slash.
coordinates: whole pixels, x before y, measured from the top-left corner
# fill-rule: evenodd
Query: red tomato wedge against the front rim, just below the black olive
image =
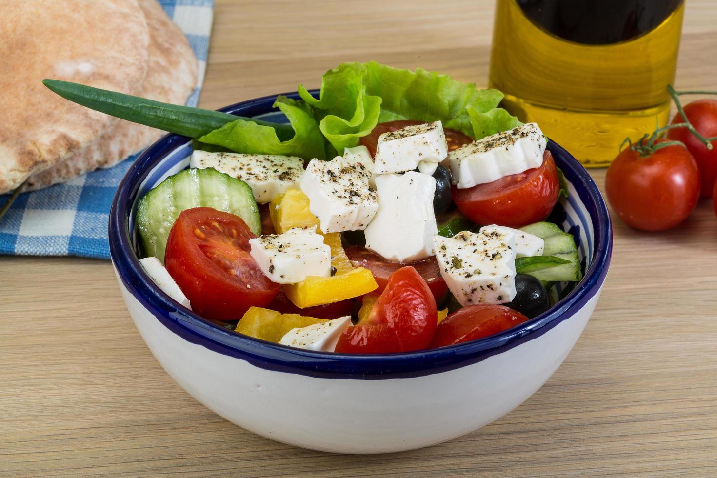
<path id="1" fill-rule="evenodd" d="M 528 317 L 504 305 L 478 304 L 456 310 L 436 328 L 430 348 L 478 340 L 522 324 Z"/>

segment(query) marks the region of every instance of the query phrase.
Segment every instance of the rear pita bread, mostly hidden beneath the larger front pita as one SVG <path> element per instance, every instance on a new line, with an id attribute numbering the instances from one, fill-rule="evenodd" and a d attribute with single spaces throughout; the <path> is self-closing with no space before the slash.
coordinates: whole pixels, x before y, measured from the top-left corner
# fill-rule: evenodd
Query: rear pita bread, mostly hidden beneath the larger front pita
<path id="1" fill-rule="evenodd" d="M 184 104 L 196 86 L 196 58 L 184 33 L 155 0 L 139 0 L 150 32 L 149 67 L 139 95 L 152 100 Z M 69 181 L 96 168 L 109 168 L 146 148 L 164 132 L 118 120 L 85 149 L 65 161 L 31 176 L 24 190 Z"/>

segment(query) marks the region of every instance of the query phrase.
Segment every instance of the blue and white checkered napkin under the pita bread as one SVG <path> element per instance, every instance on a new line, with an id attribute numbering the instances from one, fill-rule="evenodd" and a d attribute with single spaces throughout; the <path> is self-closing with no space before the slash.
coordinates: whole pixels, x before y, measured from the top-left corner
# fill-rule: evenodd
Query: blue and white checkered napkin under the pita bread
<path id="1" fill-rule="evenodd" d="M 186 104 L 194 106 L 204 79 L 214 0 L 158 0 L 186 34 L 199 60 L 198 85 Z M 110 258 L 107 240 L 115 190 L 137 156 L 32 193 L 20 194 L 0 219 L 0 254 Z M 0 196 L 0 204 L 7 196 Z"/>

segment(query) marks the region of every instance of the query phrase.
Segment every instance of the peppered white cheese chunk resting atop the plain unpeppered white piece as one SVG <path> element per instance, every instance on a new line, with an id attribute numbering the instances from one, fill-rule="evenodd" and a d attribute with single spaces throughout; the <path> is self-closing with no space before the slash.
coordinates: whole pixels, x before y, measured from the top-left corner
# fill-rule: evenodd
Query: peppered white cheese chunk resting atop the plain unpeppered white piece
<path id="1" fill-rule="evenodd" d="M 407 126 L 379 136 L 374 174 L 413 171 L 419 168 L 421 163 L 437 165 L 447 156 L 448 146 L 440 121 Z M 436 166 L 423 166 L 426 170 L 431 167 L 435 171 Z M 433 171 L 430 172 L 432 173 Z"/>

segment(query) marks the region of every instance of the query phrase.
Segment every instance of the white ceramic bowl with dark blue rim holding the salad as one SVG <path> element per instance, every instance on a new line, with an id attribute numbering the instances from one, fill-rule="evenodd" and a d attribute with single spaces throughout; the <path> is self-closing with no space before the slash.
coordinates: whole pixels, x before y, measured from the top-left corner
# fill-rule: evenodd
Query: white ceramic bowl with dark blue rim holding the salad
<path id="1" fill-rule="evenodd" d="M 289 95 L 296 97 L 295 95 Z M 275 97 L 224 111 L 285 122 Z M 110 251 L 127 308 L 163 368 L 196 400 L 244 429 L 305 448 L 386 453 L 450 440 L 500 418 L 541 388 L 597 304 L 612 251 L 597 186 L 549 143 L 570 183 L 551 220 L 574 234 L 584 279 L 549 312 L 470 343 L 392 355 L 288 348 L 213 325 L 171 300 L 136 255 L 136 204 L 189 164 L 188 138 L 166 135 L 136 161 L 110 214 Z"/>

